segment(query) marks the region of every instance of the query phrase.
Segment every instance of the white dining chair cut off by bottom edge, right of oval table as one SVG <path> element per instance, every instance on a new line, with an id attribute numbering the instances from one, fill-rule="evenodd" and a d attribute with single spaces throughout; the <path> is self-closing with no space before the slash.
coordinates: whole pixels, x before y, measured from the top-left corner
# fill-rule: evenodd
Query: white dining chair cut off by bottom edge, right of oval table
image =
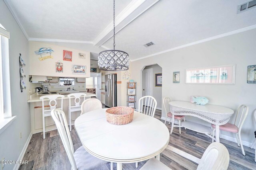
<path id="1" fill-rule="evenodd" d="M 229 164 L 229 153 L 226 147 L 221 143 L 211 143 L 207 149 L 204 151 L 204 154 L 201 159 L 183 152 L 182 150 L 176 149 L 174 147 L 168 147 L 172 152 L 183 156 L 189 160 L 198 164 L 197 170 L 227 170 Z M 170 170 L 168 166 L 151 158 L 140 168 L 140 170 Z"/>

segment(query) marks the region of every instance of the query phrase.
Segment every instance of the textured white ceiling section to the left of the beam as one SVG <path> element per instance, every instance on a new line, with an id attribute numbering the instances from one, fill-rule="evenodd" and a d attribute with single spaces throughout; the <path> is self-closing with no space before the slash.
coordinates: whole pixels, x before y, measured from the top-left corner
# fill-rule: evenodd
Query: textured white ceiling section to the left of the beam
<path id="1" fill-rule="evenodd" d="M 92 41 L 113 20 L 112 0 L 9 0 L 30 38 Z M 118 15 L 131 0 L 116 0 Z"/>

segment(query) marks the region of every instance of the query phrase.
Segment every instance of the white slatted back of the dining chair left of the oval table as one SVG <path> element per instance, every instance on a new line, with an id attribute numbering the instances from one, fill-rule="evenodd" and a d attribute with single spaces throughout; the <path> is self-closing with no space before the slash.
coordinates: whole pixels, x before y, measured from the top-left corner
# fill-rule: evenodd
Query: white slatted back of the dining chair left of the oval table
<path id="1" fill-rule="evenodd" d="M 51 111 L 52 118 L 56 124 L 60 139 L 64 145 L 64 148 L 68 154 L 68 159 L 72 166 L 72 170 L 77 170 L 76 161 L 74 158 L 74 147 L 71 139 L 71 135 L 68 129 L 68 123 L 64 111 L 60 109 L 53 109 Z"/>

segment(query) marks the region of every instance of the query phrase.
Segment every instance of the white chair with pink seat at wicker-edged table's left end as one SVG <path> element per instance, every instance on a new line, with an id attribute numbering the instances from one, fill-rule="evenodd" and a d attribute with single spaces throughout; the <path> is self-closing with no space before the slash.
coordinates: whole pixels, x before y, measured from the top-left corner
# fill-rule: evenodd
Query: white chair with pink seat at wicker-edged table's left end
<path id="1" fill-rule="evenodd" d="M 171 98 L 165 97 L 164 98 L 164 109 L 165 109 L 166 118 L 165 118 L 164 124 L 166 123 L 166 120 L 169 117 L 169 125 L 170 125 L 170 122 L 171 122 L 171 119 L 172 119 L 173 115 L 170 112 L 169 102 L 172 102 Z M 177 119 L 179 121 L 179 125 L 174 125 L 174 122 L 172 122 L 172 127 L 179 127 L 180 128 L 180 127 L 182 127 L 182 125 L 180 124 L 181 120 L 184 119 L 184 121 L 185 121 L 185 116 L 174 115 L 174 119 Z M 170 134 L 172 134 L 172 130 L 173 130 L 173 128 L 171 129 Z M 180 131 L 180 134 L 181 134 L 181 131 Z"/>

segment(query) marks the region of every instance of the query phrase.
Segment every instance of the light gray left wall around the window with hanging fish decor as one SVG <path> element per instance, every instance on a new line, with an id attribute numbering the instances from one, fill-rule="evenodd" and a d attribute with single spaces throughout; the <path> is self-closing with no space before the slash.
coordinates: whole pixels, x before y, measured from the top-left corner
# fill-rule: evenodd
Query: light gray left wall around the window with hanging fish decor
<path id="1" fill-rule="evenodd" d="M 21 53 L 26 62 L 24 72 L 28 75 L 28 41 L 3 0 L 0 0 L 0 23 L 10 32 L 9 55 L 12 115 L 17 116 L 12 124 L 0 134 L 0 160 L 3 157 L 5 157 L 5 160 L 18 160 L 20 152 L 31 132 L 27 91 L 20 92 L 19 73 L 19 53 Z M 29 89 L 28 77 L 26 78 L 26 85 Z M 22 139 L 20 139 L 20 132 L 22 132 Z M 11 170 L 13 167 L 13 164 L 6 164 L 4 170 Z"/>

